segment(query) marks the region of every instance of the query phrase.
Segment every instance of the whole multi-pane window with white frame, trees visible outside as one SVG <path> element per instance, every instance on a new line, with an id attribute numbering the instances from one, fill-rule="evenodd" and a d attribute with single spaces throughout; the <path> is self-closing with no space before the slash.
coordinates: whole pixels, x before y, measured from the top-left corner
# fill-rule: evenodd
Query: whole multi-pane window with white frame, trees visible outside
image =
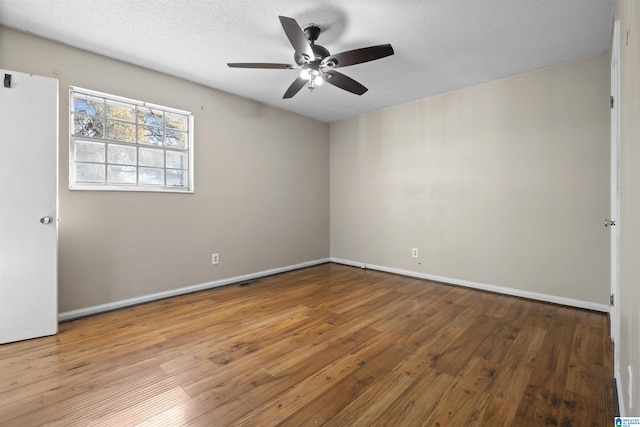
<path id="1" fill-rule="evenodd" d="M 193 115 L 71 88 L 69 188 L 193 191 Z"/>

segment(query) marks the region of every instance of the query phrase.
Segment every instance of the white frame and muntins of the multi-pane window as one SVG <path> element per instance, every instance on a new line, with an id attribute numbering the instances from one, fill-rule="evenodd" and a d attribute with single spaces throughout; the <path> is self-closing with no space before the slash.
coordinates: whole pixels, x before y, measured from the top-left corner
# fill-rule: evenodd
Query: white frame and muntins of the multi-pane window
<path id="1" fill-rule="evenodd" d="M 85 95 L 85 96 L 89 96 L 89 97 L 97 97 L 97 98 L 102 98 L 104 101 L 104 131 L 103 131 L 103 135 L 101 137 L 91 137 L 91 136 L 82 136 L 82 135 L 74 135 L 74 114 L 76 114 L 76 112 L 74 111 L 74 94 L 80 94 L 80 95 Z M 115 139 L 109 139 L 107 138 L 106 135 L 106 115 L 107 115 L 107 102 L 111 101 L 111 102 L 115 102 L 115 103 L 124 103 L 124 104 L 128 104 L 129 106 L 133 106 L 135 108 L 135 122 L 124 122 L 124 124 L 128 124 L 130 126 L 135 126 L 135 142 L 123 142 L 123 141 L 118 141 Z M 165 119 L 165 114 L 166 113 L 170 113 L 170 114 L 176 114 L 176 115 L 181 115 L 181 116 L 185 116 L 187 118 L 187 141 L 186 141 L 186 148 L 182 149 L 182 148 L 172 148 L 172 147 L 168 147 L 166 144 L 163 144 L 162 146 L 160 145 L 150 145 L 150 144 L 144 144 L 144 143 L 140 143 L 138 141 L 138 128 L 140 126 L 144 126 L 144 123 L 140 123 L 138 120 L 138 112 L 139 112 L 139 108 L 145 108 L 145 109 L 152 109 L 154 111 L 162 111 L 163 113 L 163 124 L 161 127 L 158 127 L 158 129 L 162 129 L 162 135 L 165 135 L 165 131 L 167 130 L 167 122 Z M 95 116 L 94 116 L 95 117 Z M 98 92 L 98 91 L 94 91 L 94 90 L 90 90 L 90 89 L 84 89 L 84 88 L 79 88 L 79 87 L 74 87 L 71 86 L 69 89 L 69 189 L 70 190 L 94 190 L 94 191 L 143 191 L 143 192 L 170 192 L 170 193 L 193 193 L 194 192 L 194 188 L 193 188 L 193 164 L 194 164 L 194 155 L 193 155 L 193 113 L 189 112 L 189 111 L 184 111 L 184 110 L 178 110 L 176 108 L 171 108 L 171 107 L 165 107 L 162 105 L 157 105 L 157 104 L 152 104 L 149 102 L 144 102 L 144 101 L 138 101 L 135 99 L 130 99 L 130 98 L 124 98 L 121 96 L 117 96 L 117 95 L 111 95 L 108 93 L 103 93 L 103 92 Z M 176 133 L 180 133 L 180 132 L 176 132 Z M 98 144 L 103 144 L 104 145 L 104 159 L 100 160 L 100 161 L 80 161 L 80 160 L 76 160 L 76 146 L 80 147 L 80 145 L 78 143 L 84 143 L 86 145 L 90 145 L 91 143 L 98 143 Z M 108 178 L 108 168 L 109 166 L 112 167 L 118 167 L 118 166 L 123 166 L 122 164 L 117 164 L 117 163 L 112 163 L 109 162 L 108 159 L 108 149 L 110 146 L 112 145 L 117 145 L 120 148 L 125 148 L 125 147 L 129 147 L 129 148 L 134 148 L 136 155 L 135 155 L 135 164 L 127 164 L 125 165 L 127 168 L 132 169 L 135 168 L 135 183 L 127 183 L 127 184 L 120 184 L 120 183 L 114 183 L 114 182 L 109 182 L 109 178 Z M 140 149 L 148 149 L 151 151 L 158 151 L 158 152 L 162 152 L 164 158 L 166 159 L 167 156 L 167 152 L 180 152 L 185 154 L 185 158 L 186 158 L 186 165 L 183 165 L 183 168 L 181 169 L 175 169 L 175 170 L 179 170 L 182 171 L 184 170 L 184 179 L 185 179 L 185 185 L 184 186 L 177 186 L 177 185 L 167 185 L 166 184 L 166 180 L 167 180 L 167 170 L 172 170 L 172 168 L 167 166 L 167 162 L 166 160 L 164 161 L 164 165 L 163 167 L 157 167 L 154 169 L 156 171 L 162 170 L 163 171 L 163 185 L 159 185 L 159 184 L 143 184 L 140 182 L 140 169 L 141 168 L 145 168 L 144 165 L 140 164 Z M 147 151 L 147 153 L 151 152 L 151 151 Z M 80 165 L 80 164 L 85 164 L 85 165 L 97 165 L 97 166 L 104 166 L 104 181 L 103 182 L 78 182 L 78 180 L 76 179 L 76 166 Z M 186 169 L 185 169 L 186 168 Z"/>

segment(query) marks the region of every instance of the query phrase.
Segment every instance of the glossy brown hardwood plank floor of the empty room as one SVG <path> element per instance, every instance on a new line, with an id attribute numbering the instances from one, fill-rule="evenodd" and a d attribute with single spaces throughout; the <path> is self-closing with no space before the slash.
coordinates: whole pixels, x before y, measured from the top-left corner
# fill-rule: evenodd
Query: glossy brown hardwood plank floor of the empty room
<path id="1" fill-rule="evenodd" d="M 324 264 L 0 346 L 1 426 L 606 426 L 602 313 Z"/>

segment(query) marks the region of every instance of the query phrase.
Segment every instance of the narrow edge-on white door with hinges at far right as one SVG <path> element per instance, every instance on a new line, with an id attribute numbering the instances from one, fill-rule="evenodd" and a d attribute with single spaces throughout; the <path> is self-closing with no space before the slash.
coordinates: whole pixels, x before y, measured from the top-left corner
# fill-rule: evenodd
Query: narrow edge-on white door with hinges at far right
<path id="1" fill-rule="evenodd" d="M 609 319 L 611 339 L 614 348 L 614 375 L 620 378 L 620 22 L 613 27 L 611 45 L 611 212 L 608 224 L 611 225 L 611 299 Z M 605 225 L 607 222 L 605 222 Z"/>

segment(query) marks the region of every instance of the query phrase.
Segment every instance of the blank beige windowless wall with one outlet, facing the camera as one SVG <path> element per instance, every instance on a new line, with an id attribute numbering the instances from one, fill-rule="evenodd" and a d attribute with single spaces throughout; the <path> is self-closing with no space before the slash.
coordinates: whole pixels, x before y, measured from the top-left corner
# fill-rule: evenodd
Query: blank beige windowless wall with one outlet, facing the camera
<path id="1" fill-rule="evenodd" d="M 608 304 L 609 74 L 604 53 L 332 124 L 332 259 Z"/>

